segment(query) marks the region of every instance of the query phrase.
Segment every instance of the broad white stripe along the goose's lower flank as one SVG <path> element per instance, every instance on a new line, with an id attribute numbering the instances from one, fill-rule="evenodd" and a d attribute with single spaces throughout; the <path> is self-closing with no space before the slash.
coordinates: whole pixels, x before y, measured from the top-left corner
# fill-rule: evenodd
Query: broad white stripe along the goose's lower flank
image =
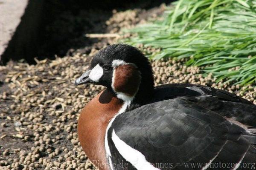
<path id="1" fill-rule="evenodd" d="M 122 141 L 116 135 L 115 130 L 113 130 L 112 132 L 112 140 L 115 144 L 116 149 L 122 155 L 122 157 L 124 157 L 134 167 L 136 167 L 137 170 L 159 170 L 158 168 L 155 168 L 152 164 L 150 164 L 142 153 Z"/>

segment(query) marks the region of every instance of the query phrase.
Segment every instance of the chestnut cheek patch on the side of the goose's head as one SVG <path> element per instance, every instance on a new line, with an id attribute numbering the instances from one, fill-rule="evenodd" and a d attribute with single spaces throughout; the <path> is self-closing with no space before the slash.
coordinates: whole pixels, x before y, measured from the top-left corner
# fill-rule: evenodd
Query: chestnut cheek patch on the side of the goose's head
<path id="1" fill-rule="evenodd" d="M 134 96 L 140 86 L 140 71 L 132 64 L 124 64 L 115 68 L 113 89 L 130 97 Z"/>

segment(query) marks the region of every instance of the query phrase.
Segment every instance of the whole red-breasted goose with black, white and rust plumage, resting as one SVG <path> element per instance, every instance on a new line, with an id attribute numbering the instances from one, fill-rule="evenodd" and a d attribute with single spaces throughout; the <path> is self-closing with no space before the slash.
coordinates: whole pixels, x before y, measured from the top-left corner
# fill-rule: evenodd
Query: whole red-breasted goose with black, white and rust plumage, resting
<path id="1" fill-rule="evenodd" d="M 256 105 L 250 101 L 208 86 L 154 87 L 148 59 L 125 44 L 95 55 L 75 82 L 87 83 L 107 87 L 78 122 L 81 146 L 102 170 L 256 166 Z"/>

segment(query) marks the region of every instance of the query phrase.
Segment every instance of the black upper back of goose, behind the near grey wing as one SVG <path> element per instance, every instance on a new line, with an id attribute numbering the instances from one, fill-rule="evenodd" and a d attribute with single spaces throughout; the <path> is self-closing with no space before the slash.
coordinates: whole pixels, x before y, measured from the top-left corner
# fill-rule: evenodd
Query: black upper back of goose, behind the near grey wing
<path id="1" fill-rule="evenodd" d="M 157 86 L 152 103 L 178 96 L 244 125 L 256 126 L 256 105 L 230 92 L 193 84 Z"/>

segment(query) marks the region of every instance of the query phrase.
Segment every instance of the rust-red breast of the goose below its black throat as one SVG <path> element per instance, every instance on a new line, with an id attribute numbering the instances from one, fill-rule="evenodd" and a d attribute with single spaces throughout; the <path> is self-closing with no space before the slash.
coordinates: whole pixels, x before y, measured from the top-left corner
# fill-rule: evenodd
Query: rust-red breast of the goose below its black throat
<path id="1" fill-rule="evenodd" d="M 80 144 L 93 164 L 108 170 L 104 137 L 109 121 L 122 107 L 123 102 L 108 89 L 99 93 L 81 111 L 78 121 Z"/>

